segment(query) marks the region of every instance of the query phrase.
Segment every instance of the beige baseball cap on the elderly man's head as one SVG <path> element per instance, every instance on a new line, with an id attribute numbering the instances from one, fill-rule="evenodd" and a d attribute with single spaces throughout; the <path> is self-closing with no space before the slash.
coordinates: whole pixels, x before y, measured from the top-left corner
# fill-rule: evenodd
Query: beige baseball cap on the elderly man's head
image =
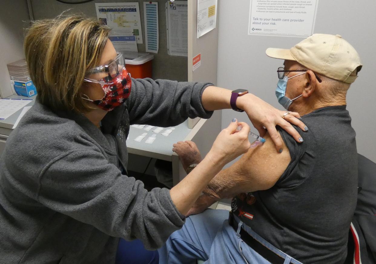
<path id="1" fill-rule="evenodd" d="M 295 60 L 314 72 L 344 83 L 353 83 L 357 76 L 350 74 L 362 68 L 358 52 L 340 35 L 313 34 L 291 49 L 268 48 L 266 55 Z"/>

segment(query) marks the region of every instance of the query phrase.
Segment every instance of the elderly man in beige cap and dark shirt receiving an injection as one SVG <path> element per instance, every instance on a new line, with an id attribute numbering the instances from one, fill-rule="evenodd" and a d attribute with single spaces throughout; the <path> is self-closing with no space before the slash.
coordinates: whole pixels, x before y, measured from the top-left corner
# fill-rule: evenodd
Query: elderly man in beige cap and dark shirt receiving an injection
<path id="1" fill-rule="evenodd" d="M 327 34 L 266 54 L 284 60 L 276 96 L 285 117 L 296 111 L 309 127 L 302 144 L 277 127 L 281 154 L 266 134 L 265 143 L 218 173 L 188 212 L 196 215 L 159 250 L 160 263 L 344 263 L 358 182 L 346 93 L 361 69 L 359 55 Z M 187 169 L 200 162 L 193 142 L 178 142 L 174 151 Z M 221 198 L 232 198 L 230 216 L 200 213 Z"/>

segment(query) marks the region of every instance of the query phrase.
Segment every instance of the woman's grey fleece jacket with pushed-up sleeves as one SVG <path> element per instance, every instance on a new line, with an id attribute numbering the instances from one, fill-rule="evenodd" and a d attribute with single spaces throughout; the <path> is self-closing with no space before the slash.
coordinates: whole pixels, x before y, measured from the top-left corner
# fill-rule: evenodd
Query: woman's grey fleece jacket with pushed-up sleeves
<path id="1" fill-rule="evenodd" d="M 119 237 L 160 247 L 185 218 L 168 189 L 147 192 L 121 174 L 129 125 L 209 118 L 201 102 L 208 85 L 132 79 L 102 132 L 37 99 L 0 157 L 0 263 L 114 263 Z"/>

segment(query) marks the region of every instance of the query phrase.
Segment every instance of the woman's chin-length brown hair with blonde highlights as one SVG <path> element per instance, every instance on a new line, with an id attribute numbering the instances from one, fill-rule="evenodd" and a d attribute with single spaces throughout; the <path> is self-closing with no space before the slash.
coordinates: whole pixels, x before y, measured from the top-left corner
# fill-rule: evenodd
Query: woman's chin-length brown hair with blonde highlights
<path id="1" fill-rule="evenodd" d="M 53 111 L 93 109 L 80 91 L 88 69 L 100 62 L 110 28 L 80 16 L 34 21 L 24 51 L 39 101 Z"/>

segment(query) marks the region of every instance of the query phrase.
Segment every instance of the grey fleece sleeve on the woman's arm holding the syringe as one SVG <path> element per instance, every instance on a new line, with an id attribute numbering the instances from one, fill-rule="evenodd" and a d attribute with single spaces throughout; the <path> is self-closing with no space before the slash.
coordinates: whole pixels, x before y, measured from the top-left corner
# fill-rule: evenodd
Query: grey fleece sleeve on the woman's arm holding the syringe
<path id="1" fill-rule="evenodd" d="M 95 150 L 70 151 L 47 164 L 39 175 L 37 199 L 109 236 L 140 239 L 150 250 L 185 222 L 168 189 L 148 192 Z"/>

